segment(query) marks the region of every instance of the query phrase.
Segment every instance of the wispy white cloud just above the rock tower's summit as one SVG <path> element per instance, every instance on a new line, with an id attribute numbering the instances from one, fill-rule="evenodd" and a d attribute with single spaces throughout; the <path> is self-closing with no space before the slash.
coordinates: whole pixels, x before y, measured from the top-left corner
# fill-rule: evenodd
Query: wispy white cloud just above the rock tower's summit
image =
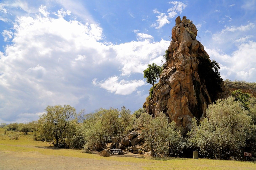
<path id="1" fill-rule="evenodd" d="M 166 13 L 160 13 L 157 9 L 153 10 L 154 14 L 157 15 L 157 20 L 155 23 L 151 25 L 151 27 L 155 27 L 156 29 L 162 28 L 166 24 L 170 24 L 169 19 L 174 18 L 177 15 L 177 12 L 182 13 L 182 11 L 186 8 L 186 4 L 178 1 L 171 1 L 169 4 L 172 4 L 173 7 L 167 9 Z"/>

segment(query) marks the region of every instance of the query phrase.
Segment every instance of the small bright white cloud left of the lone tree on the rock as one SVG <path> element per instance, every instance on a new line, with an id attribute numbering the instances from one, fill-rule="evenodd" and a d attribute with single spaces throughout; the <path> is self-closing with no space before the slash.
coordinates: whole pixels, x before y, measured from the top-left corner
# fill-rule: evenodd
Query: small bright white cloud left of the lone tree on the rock
<path id="1" fill-rule="evenodd" d="M 98 85 L 101 88 L 106 89 L 107 91 L 120 95 L 129 95 L 132 92 L 136 91 L 138 87 L 145 85 L 144 80 L 119 80 L 119 77 L 113 76 L 109 77 L 104 82 L 96 82 L 96 79 L 93 80 L 94 85 Z"/>

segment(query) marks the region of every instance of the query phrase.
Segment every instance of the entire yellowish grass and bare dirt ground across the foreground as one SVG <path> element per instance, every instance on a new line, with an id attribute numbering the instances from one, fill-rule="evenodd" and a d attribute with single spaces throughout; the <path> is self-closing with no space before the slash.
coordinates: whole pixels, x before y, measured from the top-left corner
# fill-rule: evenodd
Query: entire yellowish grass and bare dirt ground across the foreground
<path id="1" fill-rule="evenodd" d="M 255 162 L 243 161 L 144 155 L 100 157 L 81 150 L 54 149 L 47 142 L 34 141 L 32 134 L 20 133 L 18 140 L 10 140 L 12 133 L 7 131 L 4 135 L 0 129 L 0 169 L 256 169 Z"/>

